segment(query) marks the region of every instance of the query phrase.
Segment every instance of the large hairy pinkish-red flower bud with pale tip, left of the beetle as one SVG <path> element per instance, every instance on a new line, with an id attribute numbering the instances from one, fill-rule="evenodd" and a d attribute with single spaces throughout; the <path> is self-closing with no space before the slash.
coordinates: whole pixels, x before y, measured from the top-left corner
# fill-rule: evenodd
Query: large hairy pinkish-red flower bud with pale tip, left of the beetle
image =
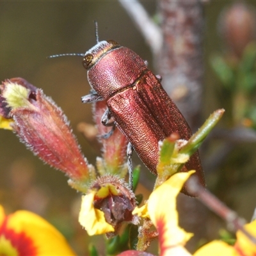
<path id="1" fill-rule="evenodd" d="M 89 183 L 93 167 L 52 99 L 22 78 L 4 81 L 0 90 L 0 127 L 7 120 L 8 128 L 45 163 L 65 172 L 73 182 Z"/>

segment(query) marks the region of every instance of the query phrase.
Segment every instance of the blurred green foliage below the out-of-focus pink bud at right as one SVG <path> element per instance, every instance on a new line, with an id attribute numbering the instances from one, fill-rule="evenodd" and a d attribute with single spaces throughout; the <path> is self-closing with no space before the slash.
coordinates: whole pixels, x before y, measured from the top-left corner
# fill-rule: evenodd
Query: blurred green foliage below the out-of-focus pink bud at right
<path id="1" fill-rule="evenodd" d="M 219 93 L 224 97 L 220 97 L 220 104 L 227 109 L 228 125 L 255 129 L 256 42 L 246 45 L 239 58 L 234 54 L 215 54 L 211 66 L 221 82 Z"/>

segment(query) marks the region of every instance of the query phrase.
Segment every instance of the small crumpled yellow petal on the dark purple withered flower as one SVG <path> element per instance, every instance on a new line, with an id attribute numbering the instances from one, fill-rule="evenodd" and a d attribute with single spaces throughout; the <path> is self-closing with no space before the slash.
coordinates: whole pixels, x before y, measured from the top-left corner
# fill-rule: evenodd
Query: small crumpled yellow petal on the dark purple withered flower
<path id="1" fill-rule="evenodd" d="M 104 212 L 93 207 L 96 191 L 82 196 L 81 210 L 79 212 L 79 223 L 86 229 L 89 236 L 113 232 L 115 229 L 106 222 Z"/>

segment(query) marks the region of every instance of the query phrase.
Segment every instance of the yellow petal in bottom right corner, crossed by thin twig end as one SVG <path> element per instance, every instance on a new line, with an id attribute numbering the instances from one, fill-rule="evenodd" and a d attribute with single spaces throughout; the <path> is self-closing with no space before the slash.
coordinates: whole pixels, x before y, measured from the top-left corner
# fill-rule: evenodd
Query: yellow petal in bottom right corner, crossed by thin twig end
<path id="1" fill-rule="evenodd" d="M 244 225 L 244 228 L 254 237 L 256 237 L 256 220 L 252 223 Z M 236 233 L 237 241 L 235 248 L 241 250 L 244 255 L 256 255 L 256 245 L 250 241 L 250 239 L 243 233 L 241 230 L 238 230 Z"/>

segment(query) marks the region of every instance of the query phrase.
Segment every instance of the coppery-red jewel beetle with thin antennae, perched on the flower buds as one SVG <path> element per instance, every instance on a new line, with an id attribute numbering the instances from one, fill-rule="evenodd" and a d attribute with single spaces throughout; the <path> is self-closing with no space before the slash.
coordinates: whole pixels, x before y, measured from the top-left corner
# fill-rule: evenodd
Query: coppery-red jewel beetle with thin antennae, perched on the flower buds
<path id="1" fill-rule="evenodd" d="M 102 116 L 102 124 L 109 125 L 112 117 L 115 125 L 129 140 L 128 163 L 131 183 L 131 148 L 150 172 L 156 173 L 159 157 L 159 141 L 177 132 L 181 139 L 189 140 L 191 129 L 172 99 L 161 85 L 161 77 L 155 76 L 147 63 L 135 52 L 114 40 L 104 40 L 85 54 L 60 54 L 55 56 L 83 56 L 88 82 L 92 87 L 82 102 L 106 100 L 108 109 Z M 196 170 L 200 183 L 205 186 L 204 172 L 198 152 L 190 157 L 182 172 Z M 186 193 L 186 189 L 183 189 Z"/>

